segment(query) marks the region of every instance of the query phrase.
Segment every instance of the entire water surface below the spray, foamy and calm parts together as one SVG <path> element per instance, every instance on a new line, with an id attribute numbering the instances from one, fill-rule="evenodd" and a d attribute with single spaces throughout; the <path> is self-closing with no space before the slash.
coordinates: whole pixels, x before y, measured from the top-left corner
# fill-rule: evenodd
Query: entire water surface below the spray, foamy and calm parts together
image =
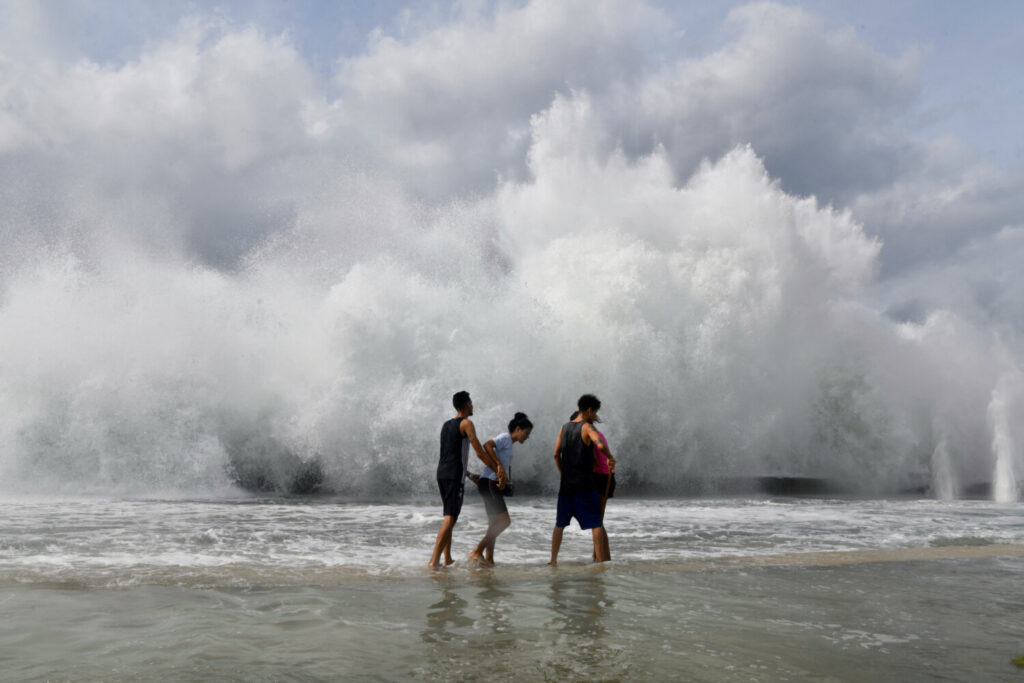
<path id="1" fill-rule="evenodd" d="M 1024 505 L 553 498 L 425 568 L 433 500 L 0 502 L 3 681 L 1021 681 Z"/>

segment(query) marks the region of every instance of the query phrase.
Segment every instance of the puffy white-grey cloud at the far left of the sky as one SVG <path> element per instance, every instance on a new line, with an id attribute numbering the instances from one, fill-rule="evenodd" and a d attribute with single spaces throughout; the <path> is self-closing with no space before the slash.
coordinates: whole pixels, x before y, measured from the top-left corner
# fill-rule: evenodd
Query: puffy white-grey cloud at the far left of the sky
<path id="1" fill-rule="evenodd" d="M 8 236 L 120 234 L 230 265 L 287 225 L 322 90 L 280 37 L 189 22 L 137 59 L 8 61 Z M 49 216 L 41 220 L 41 216 Z"/>

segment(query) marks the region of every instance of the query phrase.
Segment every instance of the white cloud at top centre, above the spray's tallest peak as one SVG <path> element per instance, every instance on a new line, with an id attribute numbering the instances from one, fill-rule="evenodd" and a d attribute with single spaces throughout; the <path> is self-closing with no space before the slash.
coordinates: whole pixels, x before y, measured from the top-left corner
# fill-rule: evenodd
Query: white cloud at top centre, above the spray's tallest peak
<path id="1" fill-rule="evenodd" d="M 336 76 L 346 134 L 369 138 L 368 154 L 422 191 L 489 188 L 521 169 L 530 116 L 558 92 L 635 78 L 665 27 L 645 4 L 573 0 L 499 5 L 408 40 L 378 35 Z"/>

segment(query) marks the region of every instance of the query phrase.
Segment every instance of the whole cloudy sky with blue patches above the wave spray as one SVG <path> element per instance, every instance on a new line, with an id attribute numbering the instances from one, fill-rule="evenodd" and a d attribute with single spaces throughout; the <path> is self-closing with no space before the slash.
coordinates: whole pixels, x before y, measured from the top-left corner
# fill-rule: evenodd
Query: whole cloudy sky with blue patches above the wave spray
<path id="1" fill-rule="evenodd" d="M 527 173 L 530 117 L 585 93 L 609 145 L 664 146 L 680 183 L 749 143 L 786 191 L 852 211 L 884 244 L 874 296 L 893 315 L 953 306 L 1012 324 L 1022 14 L 924 0 L 5 0 L 2 229 L 122 229 L 95 213 L 119 210 L 114 193 L 124 211 L 164 209 L 122 225 L 134 238 L 230 268 L 294 218 L 289 164 L 358 167 L 426 202 L 486 193 Z M 272 186 L 250 196 L 259 183 Z"/>

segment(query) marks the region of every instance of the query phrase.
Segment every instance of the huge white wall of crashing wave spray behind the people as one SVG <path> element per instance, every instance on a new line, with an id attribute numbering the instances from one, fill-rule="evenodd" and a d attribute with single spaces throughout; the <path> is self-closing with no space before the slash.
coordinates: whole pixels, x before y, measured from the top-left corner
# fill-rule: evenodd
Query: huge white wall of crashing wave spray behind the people
<path id="1" fill-rule="evenodd" d="M 0 312 L 6 485 L 187 495 L 252 470 L 288 488 L 315 462 L 337 492 L 425 493 L 461 388 L 485 436 L 534 417 L 516 476 L 548 488 L 583 391 L 641 486 L 986 479 L 982 335 L 871 310 L 878 243 L 752 150 L 676 187 L 658 155 L 588 146 L 588 116 L 563 100 L 535 121 L 530 181 L 431 210 L 368 183 L 357 203 L 390 223 L 301 211 L 236 272 L 117 244 L 26 254 Z"/>

